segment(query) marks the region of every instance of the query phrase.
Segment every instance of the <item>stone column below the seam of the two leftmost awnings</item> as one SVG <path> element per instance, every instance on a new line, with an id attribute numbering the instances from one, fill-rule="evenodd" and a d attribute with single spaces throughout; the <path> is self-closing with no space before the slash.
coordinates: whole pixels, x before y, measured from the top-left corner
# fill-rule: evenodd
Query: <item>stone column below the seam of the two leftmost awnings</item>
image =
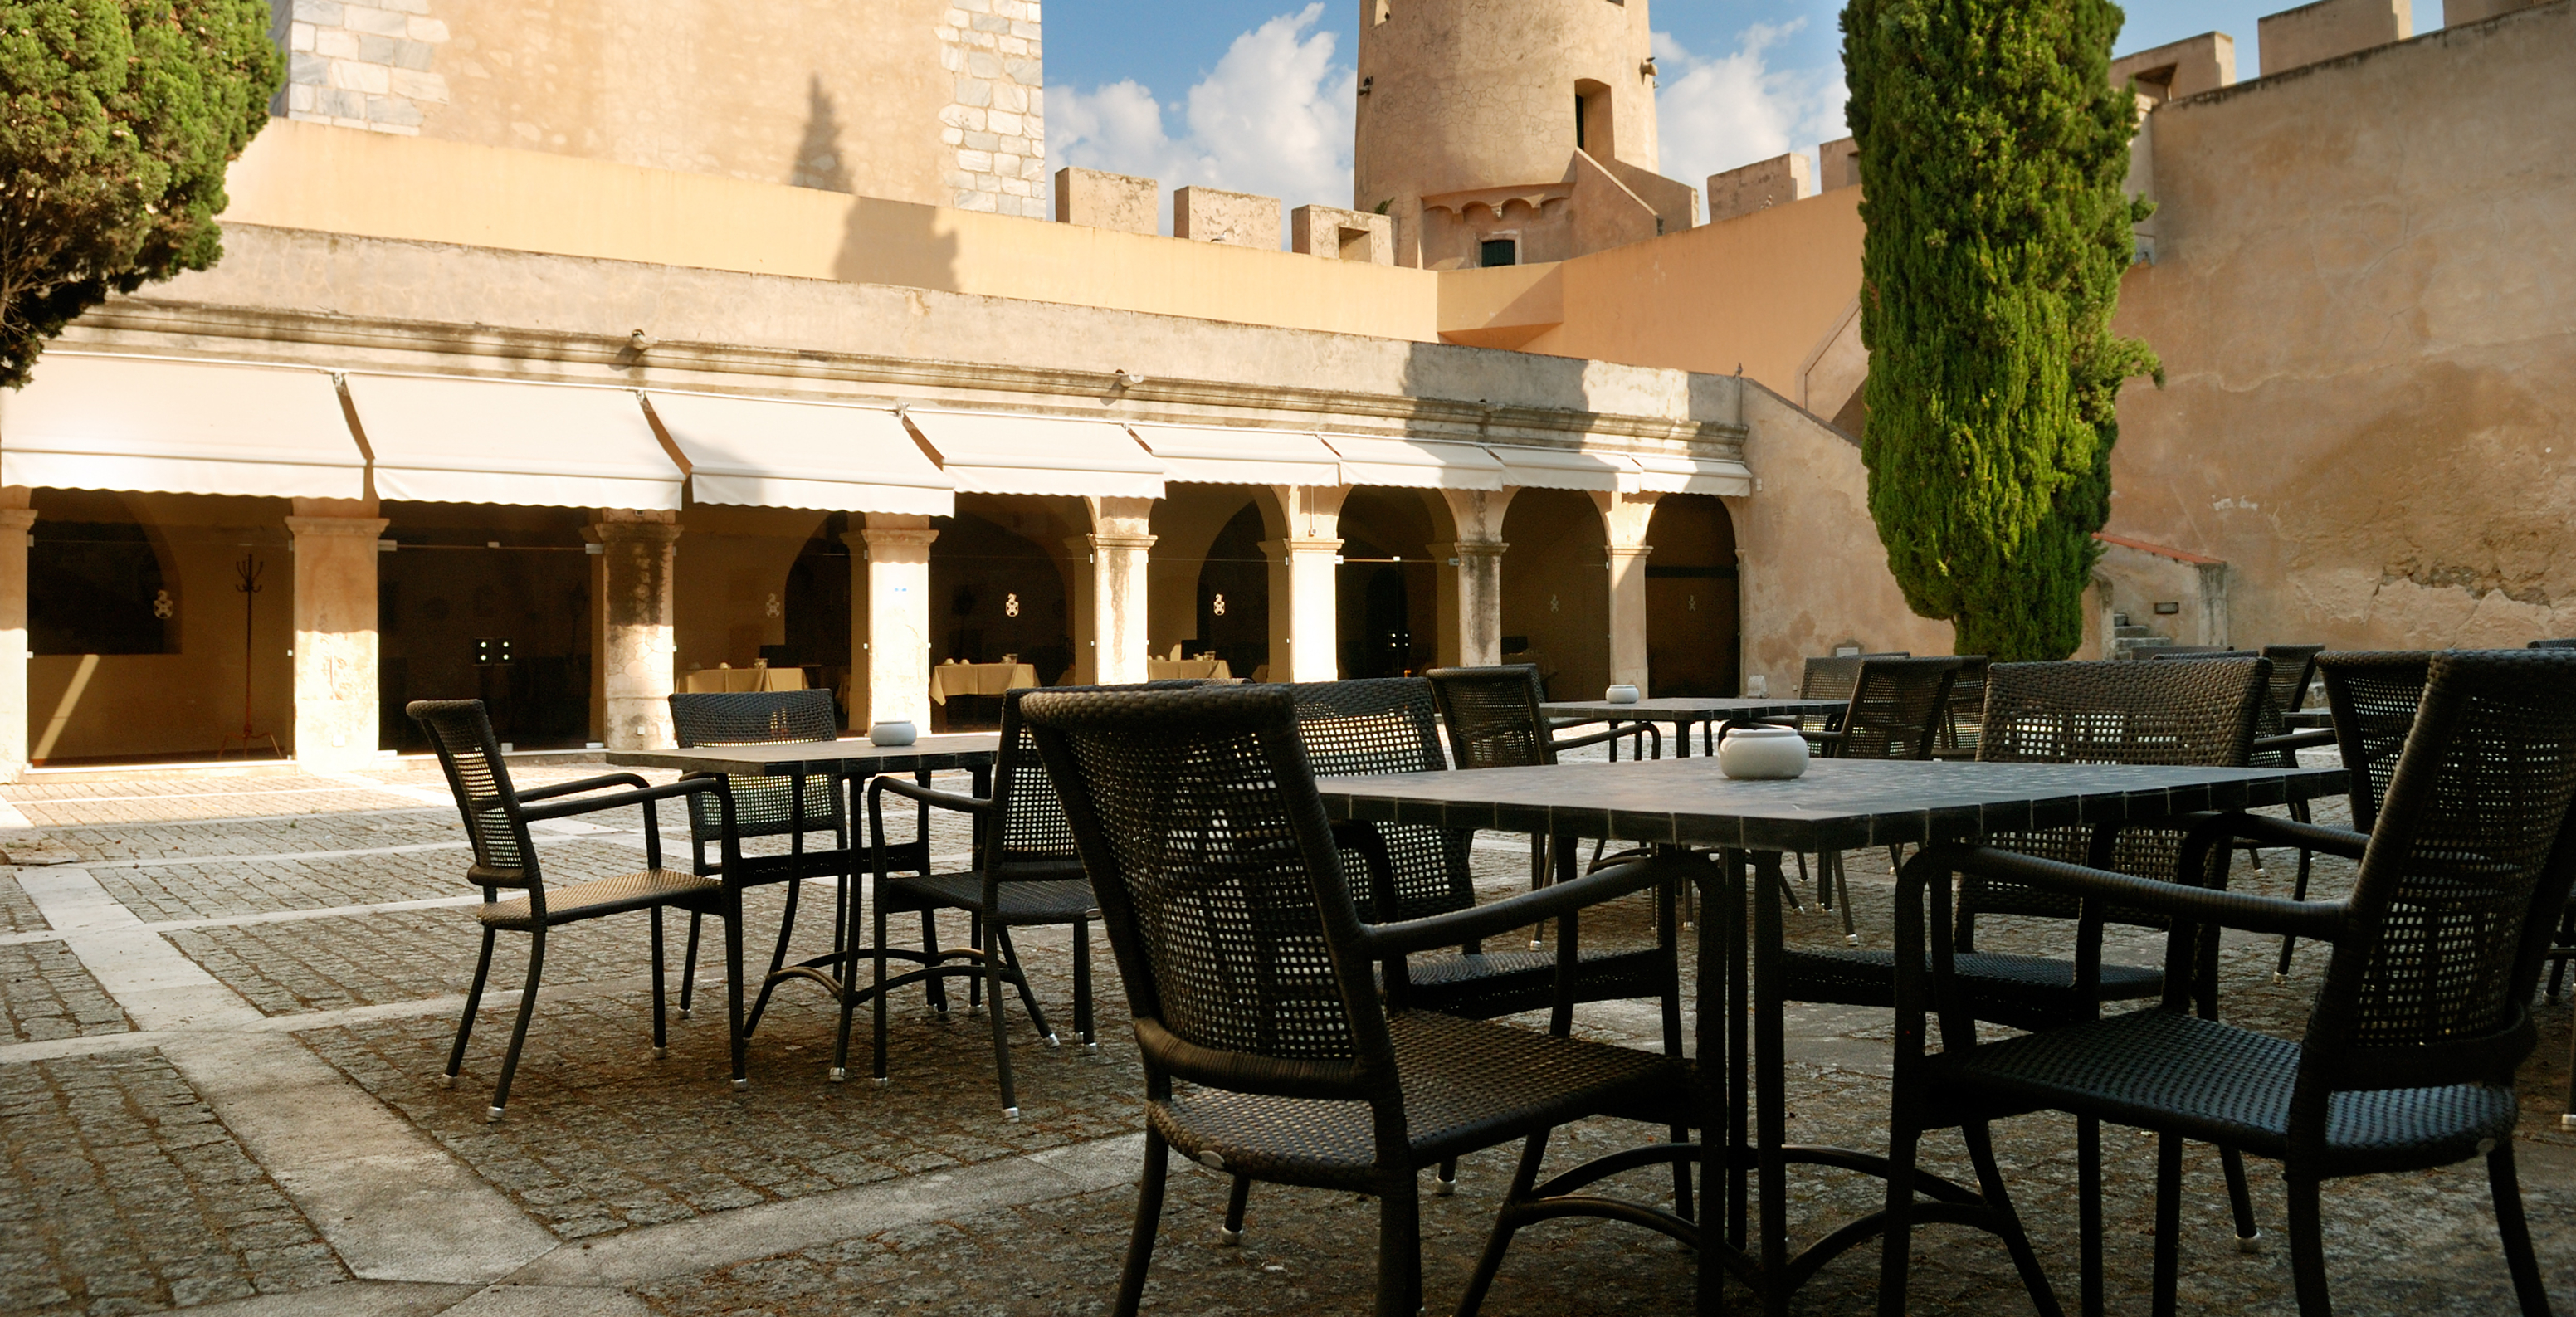
<path id="1" fill-rule="evenodd" d="M 296 544 L 296 763 L 361 768 L 376 760 L 376 541 L 374 500 L 299 497 Z"/>

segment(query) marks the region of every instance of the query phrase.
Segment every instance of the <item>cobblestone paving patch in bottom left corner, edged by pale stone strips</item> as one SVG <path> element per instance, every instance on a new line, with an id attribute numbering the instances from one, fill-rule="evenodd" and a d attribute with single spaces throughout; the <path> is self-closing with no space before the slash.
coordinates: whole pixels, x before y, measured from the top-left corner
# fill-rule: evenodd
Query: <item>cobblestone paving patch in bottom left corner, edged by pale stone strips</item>
<path id="1" fill-rule="evenodd" d="M 160 1054 L 0 1064 L 0 1312 L 160 1312 L 348 1271 Z"/>

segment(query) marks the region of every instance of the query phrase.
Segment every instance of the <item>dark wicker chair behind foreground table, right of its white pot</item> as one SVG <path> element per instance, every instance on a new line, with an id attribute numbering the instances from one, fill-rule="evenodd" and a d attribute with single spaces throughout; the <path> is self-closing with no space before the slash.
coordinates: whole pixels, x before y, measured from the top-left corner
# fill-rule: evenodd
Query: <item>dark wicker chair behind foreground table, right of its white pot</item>
<path id="1" fill-rule="evenodd" d="M 1986 727 L 1978 763 L 2174 763 L 2241 768 L 2254 753 L 2254 727 L 2269 701 L 2272 665 L 2262 657 L 2205 662 L 1999 662 L 1986 678 Z M 1996 832 L 1989 845 L 2094 863 L 2141 879 L 2226 887 L 2226 851 L 2192 858 L 2182 827 L 2053 827 Z M 2184 863 L 2192 863 L 2184 871 Z M 2074 925 L 2071 959 L 1978 951 L 1976 923 L 1991 918 L 2043 918 Z M 2146 910 L 2107 910 L 2107 923 L 2161 928 Z M 2092 1015 L 2097 1003 L 2136 1003 L 2166 992 L 2166 969 L 2099 964 L 2102 923 L 2084 923 L 2074 899 L 2007 879 L 1968 879 L 1958 892 L 1958 990 L 1978 1021 L 2012 1028 L 2050 1028 Z M 1896 1005 L 1901 951 L 1793 948 L 1780 961 L 1785 995 L 1806 1003 Z M 2084 964 L 2097 964 L 2084 990 Z M 2215 1010 L 2215 985 L 2195 985 L 2195 1000 Z M 2102 1134 L 2092 1121 L 2076 1129 L 2087 1175 L 2099 1173 Z M 2223 1157 L 2228 1206 L 2239 1247 L 2262 1232 L 2244 1160 Z M 2099 1247 L 2089 1232 L 2087 1247 Z"/>

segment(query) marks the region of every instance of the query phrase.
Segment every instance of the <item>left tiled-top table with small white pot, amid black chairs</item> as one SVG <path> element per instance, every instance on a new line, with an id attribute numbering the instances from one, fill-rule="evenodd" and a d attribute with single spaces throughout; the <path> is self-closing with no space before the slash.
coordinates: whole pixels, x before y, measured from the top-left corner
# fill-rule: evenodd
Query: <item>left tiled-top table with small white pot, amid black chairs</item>
<path id="1" fill-rule="evenodd" d="M 1020 665 L 1028 668 L 1025 662 Z M 1002 758 L 999 732 L 953 732 L 920 737 L 912 745 L 876 745 L 866 737 L 799 740 L 783 745 L 696 745 L 688 750 L 611 750 L 618 768 L 677 768 L 683 773 L 739 773 L 755 778 L 796 778 L 793 809 L 796 832 L 804 832 L 804 778 L 832 778 L 832 791 L 850 791 L 850 838 L 863 835 L 858 783 L 878 773 L 912 773 L 922 786 L 940 768 L 966 768 L 974 773 L 974 794 L 992 794 L 992 765 Z M 930 832 L 909 843 L 886 848 L 889 866 L 930 871 Z M 842 881 L 848 884 L 848 871 Z M 840 928 L 832 930 L 832 951 L 799 964 L 781 966 L 762 979 L 762 992 L 783 979 L 811 979 L 824 985 L 840 1003 L 840 1036 L 832 1044 L 832 1082 L 850 1075 L 850 1010 L 868 1000 L 876 987 L 858 987 L 858 964 L 876 956 L 860 941 L 858 899 L 845 899 Z M 886 951 L 907 961 L 920 961 L 920 951 Z"/>

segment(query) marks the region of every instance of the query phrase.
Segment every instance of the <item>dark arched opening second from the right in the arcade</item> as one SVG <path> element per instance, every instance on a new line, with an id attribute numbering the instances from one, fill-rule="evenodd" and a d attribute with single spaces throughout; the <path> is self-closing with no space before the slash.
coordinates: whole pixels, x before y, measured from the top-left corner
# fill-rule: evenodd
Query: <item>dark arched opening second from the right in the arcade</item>
<path id="1" fill-rule="evenodd" d="M 1502 662 L 1535 662 L 1548 698 L 1610 686 L 1610 536 L 1592 495 L 1520 490 L 1502 515 Z"/>

